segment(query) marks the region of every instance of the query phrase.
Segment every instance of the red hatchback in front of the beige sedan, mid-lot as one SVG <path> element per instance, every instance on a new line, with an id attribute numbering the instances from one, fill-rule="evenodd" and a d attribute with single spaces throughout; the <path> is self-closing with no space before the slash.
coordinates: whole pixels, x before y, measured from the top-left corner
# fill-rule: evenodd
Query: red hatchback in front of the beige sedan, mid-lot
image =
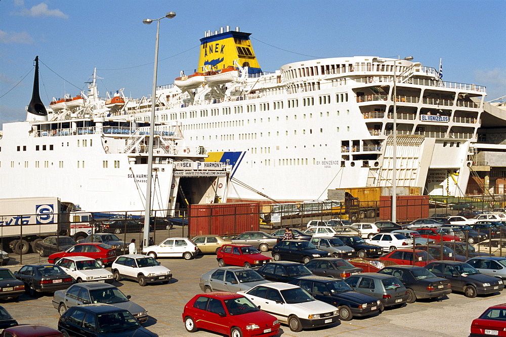
<path id="1" fill-rule="evenodd" d="M 218 266 L 240 266 L 245 268 L 260 267 L 271 261 L 271 258 L 260 254 L 257 248 L 247 244 L 224 244 L 216 253 Z"/>

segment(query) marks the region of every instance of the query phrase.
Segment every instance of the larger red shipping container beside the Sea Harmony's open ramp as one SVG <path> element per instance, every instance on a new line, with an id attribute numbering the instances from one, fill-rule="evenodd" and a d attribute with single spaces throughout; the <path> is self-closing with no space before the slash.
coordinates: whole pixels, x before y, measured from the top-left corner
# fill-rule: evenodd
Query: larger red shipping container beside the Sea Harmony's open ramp
<path id="1" fill-rule="evenodd" d="M 231 235 L 260 230 L 260 203 L 192 204 L 188 210 L 190 236 Z"/>

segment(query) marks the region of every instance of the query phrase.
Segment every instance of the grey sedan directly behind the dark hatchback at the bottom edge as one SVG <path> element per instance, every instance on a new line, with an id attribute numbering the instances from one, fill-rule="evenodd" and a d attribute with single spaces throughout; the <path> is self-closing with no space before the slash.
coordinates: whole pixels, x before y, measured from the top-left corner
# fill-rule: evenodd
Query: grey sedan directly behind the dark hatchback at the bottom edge
<path id="1" fill-rule="evenodd" d="M 53 307 L 58 309 L 60 316 L 68 308 L 84 304 L 106 303 L 130 313 L 139 321 L 144 323 L 148 320 L 146 309 L 130 301 L 131 296 L 124 294 L 114 285 L 100 282 L 76 283 L 66 290 L 55 291 Z"/>

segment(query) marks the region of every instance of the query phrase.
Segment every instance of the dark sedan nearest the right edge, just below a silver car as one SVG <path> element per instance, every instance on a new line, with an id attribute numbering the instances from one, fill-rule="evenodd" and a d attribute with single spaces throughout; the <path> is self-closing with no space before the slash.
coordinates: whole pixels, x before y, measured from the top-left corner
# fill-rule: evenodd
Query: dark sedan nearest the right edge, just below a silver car
<path id="1" fill-rule="evenodd" d="M 431 262 L 424 268 L 436 276 L 450 280 L 452 291 L 463 291 L 469 298 L 474 298 L 477 294 L 499 292 L 504 288 L 502 280 L 484 275 L 465 262 Z"/>

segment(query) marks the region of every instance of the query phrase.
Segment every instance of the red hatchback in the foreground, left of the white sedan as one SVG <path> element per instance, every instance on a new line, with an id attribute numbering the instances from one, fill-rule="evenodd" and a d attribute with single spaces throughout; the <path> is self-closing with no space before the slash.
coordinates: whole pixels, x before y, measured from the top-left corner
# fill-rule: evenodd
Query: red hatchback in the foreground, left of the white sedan
<path id="1" fill-rule="evenodd" d="M 197 329 L 239 336 L 272 336 L 279 333 L 276 317 L 261 311 L 244 296 L 225 291 L 196 295 L 185 306 L 183 322 L 188 332 Z"/>

